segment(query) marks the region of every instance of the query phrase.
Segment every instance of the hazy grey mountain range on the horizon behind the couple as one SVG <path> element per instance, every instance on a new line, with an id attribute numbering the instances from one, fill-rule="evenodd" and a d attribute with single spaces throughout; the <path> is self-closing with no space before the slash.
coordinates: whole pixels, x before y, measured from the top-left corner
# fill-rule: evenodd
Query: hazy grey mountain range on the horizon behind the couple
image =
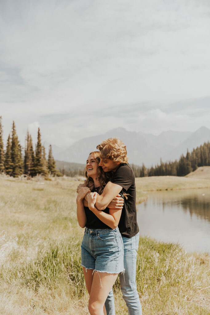
<path id="1" fill-rule="evenodd" d="M 193 148 L 210 141 L 210 129 L 201 127 L 195 132 L 169 130 L 155 136 L 116 128 L 102 135 L 78 140 L 65 149 L 53 146 L 54 158 L 60 161 L 85 164 L 89 153 L 96 151 L 96 146 L 102 140 L 111 137 L 120 138 L 126 144 L 130 164 L 142 165 L 144 163 L 146 167 L 150 167 L 160 163 L 160 159 L 163 162 L 179 159 L 181 154 L 186 154 L 187 149 L 192 151 Z"/>

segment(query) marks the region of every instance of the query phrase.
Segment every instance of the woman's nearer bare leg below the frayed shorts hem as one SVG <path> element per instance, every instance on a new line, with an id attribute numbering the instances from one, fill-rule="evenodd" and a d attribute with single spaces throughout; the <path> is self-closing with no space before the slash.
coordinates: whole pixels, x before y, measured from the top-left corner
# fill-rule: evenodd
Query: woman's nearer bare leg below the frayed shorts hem
<path id="1" fill-rule="evenodd" d="M 91 315 L 106 315 L 104 303 L 116 278 L 116 273 L 94 272 L 88 304 Z"/>

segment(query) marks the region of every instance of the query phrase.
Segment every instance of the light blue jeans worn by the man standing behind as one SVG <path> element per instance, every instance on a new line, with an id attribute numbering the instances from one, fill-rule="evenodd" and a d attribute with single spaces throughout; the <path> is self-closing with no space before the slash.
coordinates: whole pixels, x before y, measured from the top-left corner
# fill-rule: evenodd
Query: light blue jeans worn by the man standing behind
<path id="1" fill-rule="evenodd" d="M 123 299 L 128 307 L 129 315 L 142 315 L 141 303 L 136 288 L 136 260 L 139 246 L 139 233 L 132 238 L 122 237 L 124 244 L 125 274 L 119 274 Z M 114 296 L 110 291 L 105 307 L 107 315 L 115 315 Z"/>

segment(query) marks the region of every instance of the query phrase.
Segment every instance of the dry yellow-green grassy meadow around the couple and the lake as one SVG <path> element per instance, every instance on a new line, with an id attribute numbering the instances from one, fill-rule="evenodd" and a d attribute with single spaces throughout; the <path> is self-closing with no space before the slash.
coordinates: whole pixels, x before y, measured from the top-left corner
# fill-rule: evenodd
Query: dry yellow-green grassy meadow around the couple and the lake
<path id="1" fill-rule="evenodd" d="M 0 177 L 1 315 L 88 314 L 80 266 L 83 229 L 76 217 L 78 183 Z M 137 200 L 145 199 L 141 190 L 178 186 L 174 178 L 137 179 Z M 209 278 L 209 255 L 140 238 L 137 286 L 143 314 L 210 314 Z M 116 314 L 128 314 L 118 281 L 114 291 Z"/>

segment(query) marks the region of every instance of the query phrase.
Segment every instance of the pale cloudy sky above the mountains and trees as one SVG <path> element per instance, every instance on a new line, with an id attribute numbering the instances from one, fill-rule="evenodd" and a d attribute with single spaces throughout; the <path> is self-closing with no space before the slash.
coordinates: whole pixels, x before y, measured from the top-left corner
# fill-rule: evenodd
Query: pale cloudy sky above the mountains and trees
<path id="1" fill-rule="evenodd" d="M 210 128 L 209 34 L 208 0 L 1 0 L 4 140 Z"/>

